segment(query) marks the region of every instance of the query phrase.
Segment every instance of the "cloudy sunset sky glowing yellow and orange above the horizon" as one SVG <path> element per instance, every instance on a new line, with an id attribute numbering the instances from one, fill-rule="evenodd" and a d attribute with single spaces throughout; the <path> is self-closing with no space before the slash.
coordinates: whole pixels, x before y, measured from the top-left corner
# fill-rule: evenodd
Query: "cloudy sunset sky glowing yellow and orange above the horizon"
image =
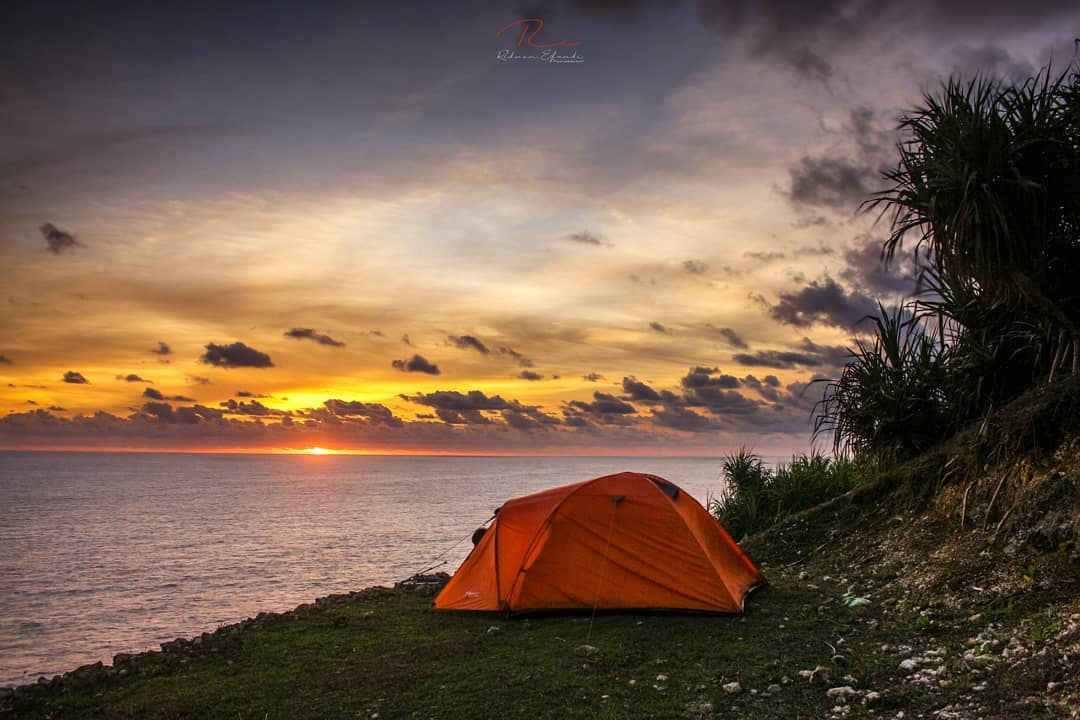
<path id="1" fill-rule="evenodd" d="M 1045 0 L 168 4 L 0 27 L 0 449 L 805 450 L 914 289 L 860 212 L 899 119 L 1080 36 Z"/>

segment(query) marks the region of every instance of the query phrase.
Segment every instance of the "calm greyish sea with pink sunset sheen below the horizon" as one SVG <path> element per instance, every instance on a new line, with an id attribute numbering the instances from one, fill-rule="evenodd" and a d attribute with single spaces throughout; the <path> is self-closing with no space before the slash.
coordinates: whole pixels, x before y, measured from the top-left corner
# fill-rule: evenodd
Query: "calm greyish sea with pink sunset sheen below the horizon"
<path id="1" fill-rule="evenodd" d="M 623 470 L 721 487 L 716 459 L 2 452 L 0 685 L 403 580 L 504 500 Z"/>

